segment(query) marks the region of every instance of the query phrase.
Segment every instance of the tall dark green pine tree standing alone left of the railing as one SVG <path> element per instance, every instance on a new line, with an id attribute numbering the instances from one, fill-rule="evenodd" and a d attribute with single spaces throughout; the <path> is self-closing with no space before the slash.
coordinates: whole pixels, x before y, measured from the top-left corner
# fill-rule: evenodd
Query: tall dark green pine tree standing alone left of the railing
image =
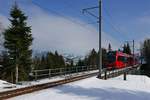
<path id="1" fill-rule="evenodd" d="M 27 26 L 27 16 L 18 8 L 17 4 L 10 11 L 11 25 L 6 29 L 4 34 L 4 47 L 8 52 L 9 63 L 16 81 L 27 80 L 30 72 L 31 57 L 32 57 L 32 34 L 31 27 Z M 9 75 L 9 71 L 7 77 Z M 18 77 L 19 76 L 19 77 Z M 10 80 L 8 80 L 10 81 Z"/>

